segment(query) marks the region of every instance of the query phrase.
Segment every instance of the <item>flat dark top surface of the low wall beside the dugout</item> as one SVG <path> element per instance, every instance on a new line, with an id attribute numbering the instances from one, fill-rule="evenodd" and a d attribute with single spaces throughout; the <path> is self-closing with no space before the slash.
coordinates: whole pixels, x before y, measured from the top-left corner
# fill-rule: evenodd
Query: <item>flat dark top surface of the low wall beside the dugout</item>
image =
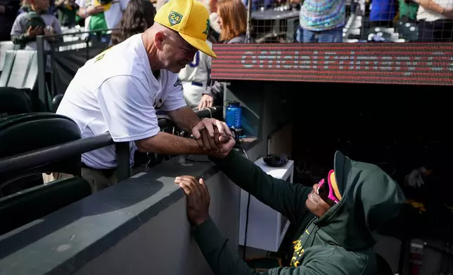
<path id="1" fill-rule="evenodd" d="M 172 159 L 4 234 L 0 274 L 72 274 L 183 198 L 174 177 L 217 172 L 211 162 Z"/>

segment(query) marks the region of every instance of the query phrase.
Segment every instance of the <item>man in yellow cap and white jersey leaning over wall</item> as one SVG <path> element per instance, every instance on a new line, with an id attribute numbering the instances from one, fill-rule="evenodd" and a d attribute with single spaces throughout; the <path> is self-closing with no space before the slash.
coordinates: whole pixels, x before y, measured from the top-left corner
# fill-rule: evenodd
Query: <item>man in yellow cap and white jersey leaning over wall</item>
<path id="1" fill-rule="evenodd" d="M 83 138 L 109 132 L 115 142 L 129 142 L 131 166 L 136 149 L 158 154 L 227 154 L 234 142 L 227 124 L 200 121 L 186 106 L 177 75 L 198 50 L 216 57 L 206 43 L 208 28 L 208 11 L 200 2 L 168 2 L 143 34 L 109 48 L 77 71 L 57 114 L 73 119 Z M 166 111 L 180 128 L 192 130 L 197 140 L 160 132 L 158 110 Z M 214 140 L 214 126 L 222 134 L 218 140 Z M 117 181 L 116 166 L 114 146 L 82 155 L 82 177 L 93 192 Z"/>

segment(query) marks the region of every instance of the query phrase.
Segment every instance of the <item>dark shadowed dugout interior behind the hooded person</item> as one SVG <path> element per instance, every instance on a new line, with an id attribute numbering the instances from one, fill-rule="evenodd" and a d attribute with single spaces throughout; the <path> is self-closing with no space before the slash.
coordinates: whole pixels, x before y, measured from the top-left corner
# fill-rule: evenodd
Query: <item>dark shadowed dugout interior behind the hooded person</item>
<path id="1" fill-rule="evenodd" d="M 333 168 L 340 150 L 375 163 L 408 200 L 382 229 L 402 241 L 437 236 L 452 243 L 452 100 L 448 86 L 278 83 L 291 106 L 294 182 L 314 184 Z M 284 87 L 283 87 L 284 86 Z M 405 178 L 425 167 L 423 185 Z"/>

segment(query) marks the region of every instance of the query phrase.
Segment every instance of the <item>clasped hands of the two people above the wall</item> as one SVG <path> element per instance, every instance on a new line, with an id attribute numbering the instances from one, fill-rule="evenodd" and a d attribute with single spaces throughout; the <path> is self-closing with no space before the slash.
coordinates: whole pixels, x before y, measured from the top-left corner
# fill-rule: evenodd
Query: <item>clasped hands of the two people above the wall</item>
<path id="1" fill-rule="evenodd" d="M 203 119 L 192 129 L 198 147 L 209 156 L 224 158 L 236 144 L 227 123 L 217 119 Z"/>

